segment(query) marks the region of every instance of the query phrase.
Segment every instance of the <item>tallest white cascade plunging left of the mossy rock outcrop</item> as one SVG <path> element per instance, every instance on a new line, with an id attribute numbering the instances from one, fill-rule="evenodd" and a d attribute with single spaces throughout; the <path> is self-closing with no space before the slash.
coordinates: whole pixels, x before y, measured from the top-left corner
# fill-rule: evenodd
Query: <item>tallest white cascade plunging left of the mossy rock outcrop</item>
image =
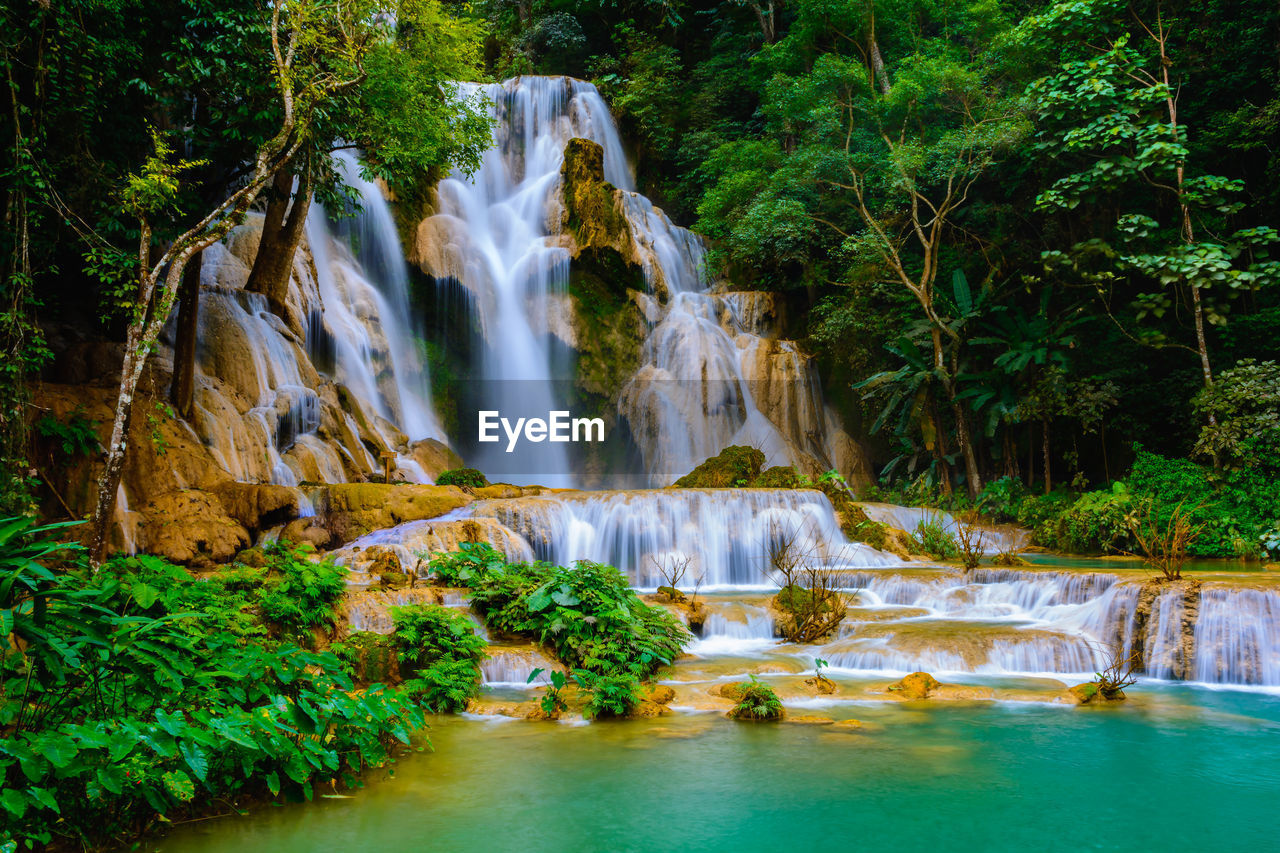
<path id="1" fill-rule="evenodd" d="M 479 374 L 484 409 L 507 418 L 545 418 L 563 409 L 554 379 L 545 313 L 568 283 L 567 250 L 558 245 L 556 209 L 564 146 L 573 137 L 604 149 L 604 173 L 630 187 L 626 158 L 608 108 L 590 83 L 561 77 L 521 77 L 489 86 L 462 85 L 460 96 L 493 104 L 493 145 L 474 175 L 454 173 L 438 187 L 434 227 L 447 234 L 436 272 L 457 279 L 471 300 L 481 337 Z M 556 227 L 558 228 L 558 227 Z M 481 469 L 500 465 L 500 448 L 480 446 Z M 572 485 L 568 455 L 545 446 L 540 484 Z M 532 474 L 532 473 L 529 473 Z M 527 478 L 526 478 L 527 479 Z"/>

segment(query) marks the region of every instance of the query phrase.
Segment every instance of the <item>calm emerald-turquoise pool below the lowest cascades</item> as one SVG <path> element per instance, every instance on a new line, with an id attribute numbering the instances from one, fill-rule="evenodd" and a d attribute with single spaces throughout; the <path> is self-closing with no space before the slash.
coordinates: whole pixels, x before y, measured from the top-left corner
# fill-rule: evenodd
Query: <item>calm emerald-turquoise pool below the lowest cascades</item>
<path id="1" fill-rule="evenodd" d="M 169 852 L 1276 849 L 1280 698 L 841 703 L 593 725 L 439 720 L 347 799 L 179 827 Z"/>

